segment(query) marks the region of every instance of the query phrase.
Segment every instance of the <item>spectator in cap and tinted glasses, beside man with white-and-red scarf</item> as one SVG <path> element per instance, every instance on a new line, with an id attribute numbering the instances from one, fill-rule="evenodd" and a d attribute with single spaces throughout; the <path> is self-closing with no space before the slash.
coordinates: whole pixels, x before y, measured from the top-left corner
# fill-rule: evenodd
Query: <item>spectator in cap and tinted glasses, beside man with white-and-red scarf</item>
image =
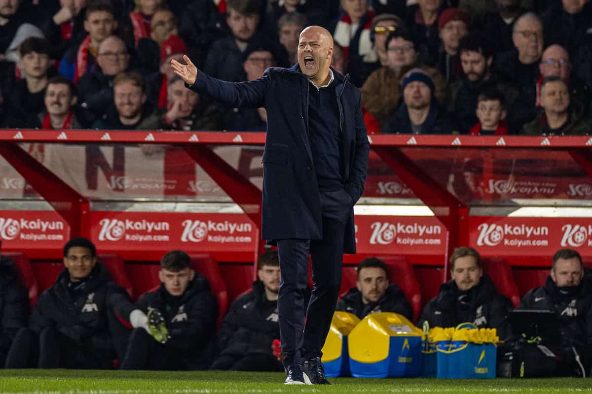
<path id="1" fill-rule="evenodd" d="M 372 51 L 363 58 L 362 80 L 387 64 L 387 37 L 392 31 L 403 26 L 403 20 L 394 14 L 381 14 L 372 19 L 370 41 Z"/>

